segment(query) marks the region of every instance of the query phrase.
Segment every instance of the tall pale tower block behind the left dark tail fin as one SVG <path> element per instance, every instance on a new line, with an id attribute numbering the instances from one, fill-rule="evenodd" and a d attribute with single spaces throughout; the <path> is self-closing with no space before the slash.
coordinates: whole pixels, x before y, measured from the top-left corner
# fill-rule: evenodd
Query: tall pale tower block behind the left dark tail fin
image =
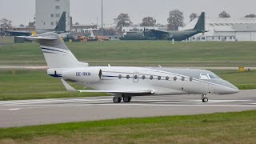
<path id="1" fill-rule="evenodd" d="M 66 11 L 66 31 L 70 31 L 70 0 L 36 0 L 36 30 L 54 29 Z"/>

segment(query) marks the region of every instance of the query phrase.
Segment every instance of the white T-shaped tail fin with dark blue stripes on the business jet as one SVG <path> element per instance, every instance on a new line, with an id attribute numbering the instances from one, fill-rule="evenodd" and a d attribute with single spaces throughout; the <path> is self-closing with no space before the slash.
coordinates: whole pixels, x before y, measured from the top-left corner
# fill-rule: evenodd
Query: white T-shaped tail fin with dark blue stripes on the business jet
<path id="1" fill-rule="evenodd" d="M 36 37 L 23 37 L 38 42 L 41 46 L 46 63 L 49 68 L 75 68 L 88 66 L 87 63 L 78 62 L 74 54 L 55 33 L 38 34 Z"/>

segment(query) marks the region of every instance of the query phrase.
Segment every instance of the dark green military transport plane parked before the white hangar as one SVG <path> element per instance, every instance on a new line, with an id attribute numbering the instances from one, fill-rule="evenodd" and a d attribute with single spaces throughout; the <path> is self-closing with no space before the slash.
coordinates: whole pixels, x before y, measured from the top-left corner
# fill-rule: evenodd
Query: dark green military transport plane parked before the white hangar
<path id="1" fill-rule="evenodd" d="M 174 40 L 183 41 L 195 34 L 205 33 L 205 13 L 202 12 L 194 29 L 181 31 L 144 30 L 141 32 L 127 32 L 121 40 Z"/>

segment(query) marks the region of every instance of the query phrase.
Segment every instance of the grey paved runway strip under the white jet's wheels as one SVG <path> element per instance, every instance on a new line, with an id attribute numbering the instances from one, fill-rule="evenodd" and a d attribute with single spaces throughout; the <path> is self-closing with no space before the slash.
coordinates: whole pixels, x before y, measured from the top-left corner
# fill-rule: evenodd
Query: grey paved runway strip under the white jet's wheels
<path id="1" fill-rule="evenodd" d="M 60 98 L 0 102 L 0 127 L 80 122 L 111 118 L 138 118 L 183 114 L 209 114 L 256 110 L 256 90 L 231 95 L 134 97 L 130 103 L 114 104 L 113 97 Z"/>

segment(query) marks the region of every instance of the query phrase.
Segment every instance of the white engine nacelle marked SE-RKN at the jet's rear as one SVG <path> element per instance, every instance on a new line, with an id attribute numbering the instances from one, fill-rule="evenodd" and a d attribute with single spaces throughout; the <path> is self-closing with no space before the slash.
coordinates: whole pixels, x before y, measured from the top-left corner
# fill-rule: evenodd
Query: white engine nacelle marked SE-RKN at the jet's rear
<path id="1" fill-rule="evenodd" d="M 102 79 L 100 68 L 86 67 L 62 71 L 62 78 L 76 82 L 95 83 Z"/>

